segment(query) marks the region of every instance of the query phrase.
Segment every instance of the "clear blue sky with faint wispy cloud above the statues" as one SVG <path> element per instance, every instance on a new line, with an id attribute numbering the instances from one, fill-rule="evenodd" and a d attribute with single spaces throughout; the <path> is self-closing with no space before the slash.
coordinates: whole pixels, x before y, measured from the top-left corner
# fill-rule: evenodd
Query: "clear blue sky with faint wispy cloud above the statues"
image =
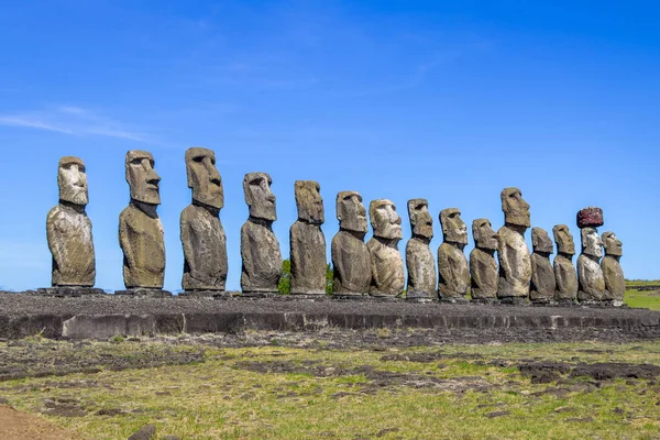
<path id="1" fill-rule="evenodd" d="M 517 186 L 534 226 L 604 209 L 630 278 L 660 278 L 660 28 L 652 2 L 30 1 L 0 4 L 0 286 L 50 285 L 57 161 L 87 164 L 97 285 L 122 287 L 123 158 L 162 177 L 165 287 L 180 288 L 184 152 L 216 151 L 229 288 L 240 282 L 245 173 L 273 177 L 284 255 L 294 180 L 326 200 L 429 199 L 503 222 Z M 530 241 L 530 233 L 527 234 Z M 471 244 L 465 249 L 469 253 Z M 329 251 L 329 250 L 328 250 Z"/>

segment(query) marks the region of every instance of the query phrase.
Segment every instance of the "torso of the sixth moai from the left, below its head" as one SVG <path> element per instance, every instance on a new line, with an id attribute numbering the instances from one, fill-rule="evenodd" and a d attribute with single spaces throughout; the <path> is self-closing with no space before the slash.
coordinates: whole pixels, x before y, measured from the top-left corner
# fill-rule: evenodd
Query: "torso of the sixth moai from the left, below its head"
<path id="1" fill-rule="evenodd" d="M 340 230 L 332 238 L 331 248 L 334 271 L 332 292 L 338 295 L 366 294 L 372 275 L 370 252 L 363 239 L 351 231 Z"/>

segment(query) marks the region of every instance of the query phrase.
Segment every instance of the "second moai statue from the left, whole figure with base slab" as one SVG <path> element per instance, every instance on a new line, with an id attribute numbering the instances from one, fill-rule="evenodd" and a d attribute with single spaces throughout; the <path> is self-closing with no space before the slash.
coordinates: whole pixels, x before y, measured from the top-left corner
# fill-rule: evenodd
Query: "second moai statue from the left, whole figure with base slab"
<path id="1" fill-rule="evenodd" d="M 163 224 L 156 212 L 161 205 L 154 156 L 131 150 L 125 158 L 131 202 L 119 216 L 119 243 L 123 251 L 123 277 L 128 290 L 118 295 L 168 296 L 163 290 L 165 242 Z"/>

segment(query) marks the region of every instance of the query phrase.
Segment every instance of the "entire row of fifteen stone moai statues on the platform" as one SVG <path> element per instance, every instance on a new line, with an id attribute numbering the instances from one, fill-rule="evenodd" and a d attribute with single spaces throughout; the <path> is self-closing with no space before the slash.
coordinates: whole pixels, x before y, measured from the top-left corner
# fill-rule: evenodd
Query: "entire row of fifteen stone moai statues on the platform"
<path id="1" fill-rule="evenodd" d="M 188 295 L 222 296 L 228 273 L 227 239 L 220 221 L 224 206 L 222 180 L 211 150 L 186 151 L 188 187 L 193 201 L 180 216 L 184 249 L 182 285 Z M 165 245 L 157 215 L 161 204 L 160 177 L 148 152 L 129 151 L 125 177 L 131 201 L 119 218 L 119 242 L 123 251 L 124 295 L 170 295 L 163 290 Z M 48 246 L 53 255 L 52 287 L 46 294 L 102 293 L 95 289 L 95 250 L 88 202 L 85 164 L 66 156 L 58 168 L 59 204 L 47 217 Z M 275 196 L 266 173 L 249 173 L 243 179 L 250 216 L 241 228 L 243 296 L 271 296 L 277 293 L 282 276 L 282 253 L 272 224 L 276 220 Z M 326 294 L 326 239 L 323 201 L 319 184 L 295 183 L 298 220 L 290 228 L 290 286 L 293 295 L 320 297 Z M 475 248 L 470 263 L 463 253 L 468 228 L 457 208 L 440 212 L 443 242 L 436 260 L 430 250 L 432 218 L 425 199 L 408 201 L 413 237 L 406 245 L 408 270 L 406 298 L 427 301 L 532 302 L 622 301 L 625 283 L 619 264 L 622 242 L 614 233 L 603 239 L 596 228 L 603 212 L 586 208 L 579 212 L 582 254 L 578 271 L 573 265 L 575 248 L 569 228 L 553 228 L 558 255 L 550 263 L 553 244 L 548 233 L 532 228 L 530 254 L 525 232 L 530 227 L 529 205 L 517 188 L 502 191 L 505 224 L 495 233 L 487 219 L 472 223 Z M 332 239 L 331 254 L 337 298 L 400 298 L 406 289 L 404 261 L 398 251 L 403 239 L 402 219 L 387 199 L 370 204 L 373 237 L 365 243 L 366 209 L 355 191 L 337 196 L 339 232 Z M 603 257 L 603 244 L 606 255 Z M 497 252 L 497 261 L 495 258 Z M 602 261 L 601 261 L 602 258 Z"/>

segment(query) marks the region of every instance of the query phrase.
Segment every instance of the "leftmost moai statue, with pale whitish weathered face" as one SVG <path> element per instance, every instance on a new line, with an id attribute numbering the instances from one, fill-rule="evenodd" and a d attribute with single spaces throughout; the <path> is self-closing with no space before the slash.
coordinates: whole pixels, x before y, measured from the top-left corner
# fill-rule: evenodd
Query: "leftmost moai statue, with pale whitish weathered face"
<path id="1" fill-rule="evenodd" d="M 57 185 L 59 204 L 46 218 L 48 249 L 53 256 L 52 285 L 91 287 L 96 278 L 96 257 L 91 221 L 85 212 L 88 195 L 82 160 L 62 157 Z"/>

